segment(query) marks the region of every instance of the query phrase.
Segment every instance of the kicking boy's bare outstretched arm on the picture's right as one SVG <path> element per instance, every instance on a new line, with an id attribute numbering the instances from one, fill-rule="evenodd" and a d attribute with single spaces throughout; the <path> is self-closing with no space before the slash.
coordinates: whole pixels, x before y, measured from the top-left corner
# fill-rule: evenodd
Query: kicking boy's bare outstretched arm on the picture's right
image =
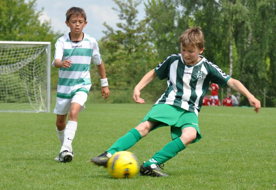
<path id="1" fill-rule="evenodd" d="M 251 106 L 255 107 L 254 111 L 256 113 L 259 112 L 259 109 L 261 108 L 261 102 L 256 99 L 246 88 L 245 86 L 238 80 L 230 78 L 227 81 L 227 85 L 230 86 L 233 90 L 243 94 L 245 97 L 247 97 L 249 103 Z"/>

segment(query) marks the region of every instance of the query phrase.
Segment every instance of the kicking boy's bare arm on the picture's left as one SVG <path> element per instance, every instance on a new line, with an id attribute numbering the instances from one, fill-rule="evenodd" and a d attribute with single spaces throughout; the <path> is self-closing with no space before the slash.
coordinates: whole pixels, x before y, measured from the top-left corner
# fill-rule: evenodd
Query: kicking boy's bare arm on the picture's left
<path id="1" fill-rule="evenodd" d="M 152 82 L 156 78 L 156 73 L 154 69 L 149 71 L 145 76 L 141 79 L 141 81 L 135 86 L 134 91 L 133 91 L 133 96 L 132 99 L 137 102 L 137 103 L 145 103 L 145 100 L 140 98 L 140 91 L 147 86 L 150 82 Z"/>

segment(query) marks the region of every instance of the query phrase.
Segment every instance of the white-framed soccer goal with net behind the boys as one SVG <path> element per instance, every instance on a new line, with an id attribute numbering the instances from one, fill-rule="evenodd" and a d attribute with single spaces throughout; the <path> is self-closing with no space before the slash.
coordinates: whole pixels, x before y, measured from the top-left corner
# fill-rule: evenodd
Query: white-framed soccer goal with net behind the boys
<path id="1" fill-rule="evenodd" d="M 0 112 L 50 112 L 51 42 L 0 41 Z"/>

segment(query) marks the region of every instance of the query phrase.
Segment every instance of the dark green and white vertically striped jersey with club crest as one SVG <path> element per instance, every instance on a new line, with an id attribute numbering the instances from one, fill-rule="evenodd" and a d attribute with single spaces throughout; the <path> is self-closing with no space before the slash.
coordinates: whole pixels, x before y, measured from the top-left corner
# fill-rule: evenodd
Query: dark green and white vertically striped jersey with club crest
<path id="1" fill-rule="evenodd" d="M 225 86 L 231 78 L 203 55 L 200 57 L 197 64 L 190 66 L 184 63 L 181 54 L 174 54 L 154 69 L 159 79 L 168 79 L 165 93 L 155 104 L 179 106 L 198 115 L 210 81 Z"/>

